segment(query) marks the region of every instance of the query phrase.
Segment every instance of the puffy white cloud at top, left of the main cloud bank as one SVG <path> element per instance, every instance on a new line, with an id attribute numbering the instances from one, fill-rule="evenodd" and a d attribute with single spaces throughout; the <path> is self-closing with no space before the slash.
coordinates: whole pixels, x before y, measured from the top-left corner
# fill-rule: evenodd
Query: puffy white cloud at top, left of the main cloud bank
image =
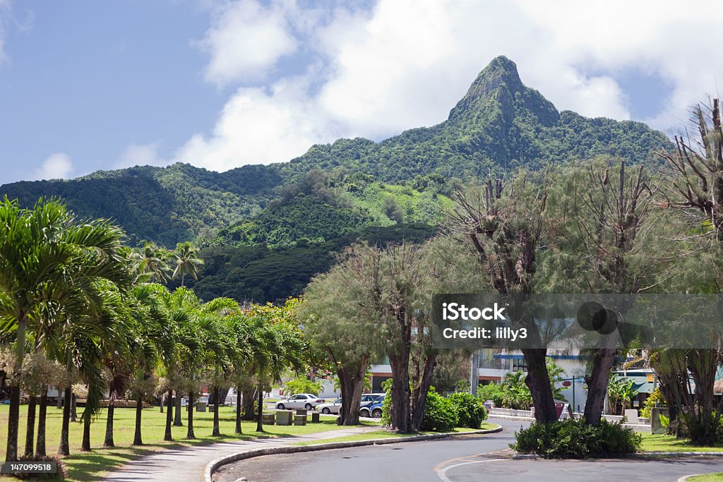
<path id="1" fill-rule="evenodd" d="M 224 4 L 198 43 L 210 53 L 205 79 L 216 85 L 262 79 L 276 61 L 293 53 L 296 39 L 288 32 L 283 4 L 263 7 L 255 0 Z"/>

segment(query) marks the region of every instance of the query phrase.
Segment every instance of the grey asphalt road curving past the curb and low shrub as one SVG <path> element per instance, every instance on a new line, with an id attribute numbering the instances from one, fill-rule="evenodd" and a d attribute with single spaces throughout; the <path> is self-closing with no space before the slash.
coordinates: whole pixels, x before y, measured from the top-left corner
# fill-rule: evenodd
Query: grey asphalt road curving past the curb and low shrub
<path id="1" fill-rule="evenodd" d="M 675 481 L 723 471 L 721 458 L 632 460 L 512 460 L 508 444 L 521 422 L 492 420 L 499 434 L 428 442 L 270 455 L 226 465 L 214 481 Z M 524 423 L 526 425 L 526 423 Z"/>

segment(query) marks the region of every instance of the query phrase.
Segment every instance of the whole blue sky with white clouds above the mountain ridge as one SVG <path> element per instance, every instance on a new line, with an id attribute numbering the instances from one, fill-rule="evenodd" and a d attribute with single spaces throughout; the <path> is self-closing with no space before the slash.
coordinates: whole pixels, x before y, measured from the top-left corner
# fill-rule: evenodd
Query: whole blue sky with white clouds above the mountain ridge
<path id="1" fill-rule="evenodd" d="M 716 95 L 708 3 L 0 0 L 0 184 L 382 139 L 444 120 L 500 54 L 560 109 L 673 132 Z"/>

